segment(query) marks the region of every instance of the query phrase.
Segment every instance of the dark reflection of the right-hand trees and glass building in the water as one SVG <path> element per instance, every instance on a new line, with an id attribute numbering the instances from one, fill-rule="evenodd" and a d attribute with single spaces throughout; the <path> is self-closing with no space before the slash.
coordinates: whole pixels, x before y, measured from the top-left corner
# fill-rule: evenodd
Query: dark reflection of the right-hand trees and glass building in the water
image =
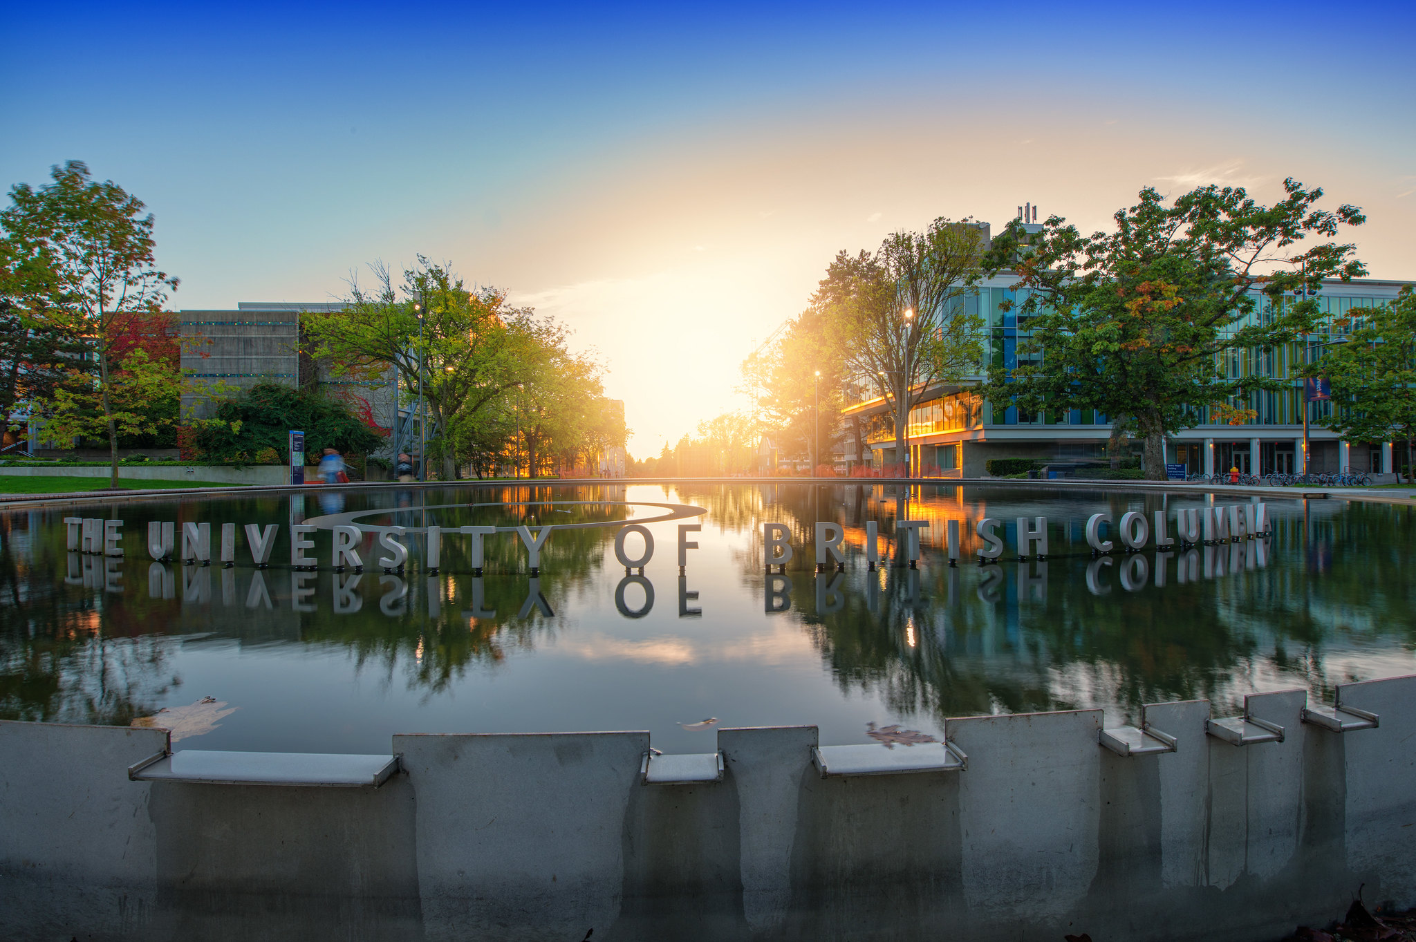
<path id="1" fill-rule="evenodd" d="M 1325 649 L 1335 641 L 1389 644 L 1395 635 L 1403 646 L 1416 646 L 1410 614 L 1416 593 L 1405 571 L 1416 536 L 1392 521 L 1393 512 L 1405 511 L 1351 505 L 1315 516 L 1301 505 L 1270 504 L 1276 536 L 1263 570 L 1180 584 L 1170 562 L 1165 587 L 1133 593 L 1117 584 L 1124 562 L 1117 556 L 1109 567 L 1110 593 L 1093 595 L 1085 580 L 1090 562 L 1083 556 L 1085 516 L 1110 511 L 1120 519 L 1126 511 L 1148 516 L 1172 509 L 1163 495 L 1087 492 L 1079 501 L 1063 491 L 926 485 L 910 488 L 908 506 L 903 498 L 903 488 L 879 485 L 782 485 L 762 502 L 759 518 L 787 522 L 793 530 L 797 554 L 787 567 L 794 580 L 793 617 L 821 649 L 837 683 L 877 693 L 899 714 L 1079 706 L 1134 714 L 1146 702 L 1191 697 L 1208 697 L 1223 709 L 1249 692 L 1256 673 L 1281 675 L 1331 699 L 1331 686 L 1348 679 L 1330 678 L 1324 668 Z M 700 499 L 711 505 L 711 498 Z M 1045 598 L 1031 586 L 1020 590 L 1018 563 L 984 570 L 967 564 L 977 546 L 971 529 L 977 519 L 1000 519 L 998 532 L 1015 552 L 1015 518 L 1038 515 L 1048 516 L 1052 536 Z M 862 545 L 851 540 L 851 530 L 864 535 L 871 519 L 879 522 L 885 557 L 892 547 L 884 537 L 896 519 L 932 522 L 918 573 L 920 601 L 910 601 L 909 570 L 885 567 L 875 574 L 879 590 L 872 605 L 871 593 L 861 588 L 872 574 L 861 571 L 857 559 L 838 610 L 818 611 L 814 581 L 826 577 L 811 574 L 811 523 L 844 523 L 848 550 L 860 554 Z M 963 537 L 966 562 L 956 570 L 942 549 L 949 519 L 960 521 Z M 756 530 L 758 523 L 743 522 L 746 528 Z M 762 593 L 760 539 L 750 543 L 739 566 L 750 590 Z M 1359 557 L 1321 571 L 1324 545 Z M 1228 550 L 1221 552 L 1228 559 Z M 1154 553 L 1146 556 L 1154 567 Z M 1029 564 L 1035 578 L 1034 573 Z"/>

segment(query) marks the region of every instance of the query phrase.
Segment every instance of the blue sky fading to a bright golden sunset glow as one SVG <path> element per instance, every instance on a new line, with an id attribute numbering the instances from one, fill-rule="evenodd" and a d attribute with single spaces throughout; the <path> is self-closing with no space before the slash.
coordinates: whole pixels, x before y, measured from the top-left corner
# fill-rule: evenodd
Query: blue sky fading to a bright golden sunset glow
<path id="1" fill-rule="evenodd" d="M 595 351 L 636 457 L 750 406 L 837 250 L 939 216 L 1294 177 L 1416 280 L 1416 4 L 1137 6 L 28 3 L 0 182 L 142 198 L 177 308 L 450 262 Z"/>

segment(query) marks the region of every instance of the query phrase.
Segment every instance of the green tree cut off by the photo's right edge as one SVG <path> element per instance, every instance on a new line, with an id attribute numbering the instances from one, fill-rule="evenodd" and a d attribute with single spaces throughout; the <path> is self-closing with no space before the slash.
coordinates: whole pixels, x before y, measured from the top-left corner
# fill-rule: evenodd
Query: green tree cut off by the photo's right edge
<path id="1" fill-rule="evenodd" d="M 1406 286 L 1385 307 L 1349 313 L 1347 342 L 1325 348 L 1306 372 L 1332 386 L 1332 413 L 1320 423 L 1348 441 L 1405 441 L 1416 468 L 1416 293 Z"/>

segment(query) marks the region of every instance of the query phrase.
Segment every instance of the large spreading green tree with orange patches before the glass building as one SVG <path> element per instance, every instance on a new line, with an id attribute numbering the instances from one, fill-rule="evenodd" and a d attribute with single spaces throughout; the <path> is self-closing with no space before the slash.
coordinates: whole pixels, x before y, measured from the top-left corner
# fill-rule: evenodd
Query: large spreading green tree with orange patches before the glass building
<path id="1" fill-rule="evenodd" d="M 1257 371 L 1222 376 L 1219 364 L 1314 330 L 1321 281 L 1365 267 L 1351 245 L 1298 243 L 1365 219 L 1349 205 L 1317 209 L 1318 188 L 1287 180 L 1284 191 L 1263 207 L 1242 188 L 1204 187 L 1167 207 L 1146 188 L 1116 212 L 1114 232 L 1092 236 L 1059 216 L 1034 233 L 1010 223 L 986 263 L 1015 270 L 1022 296 L 1018 365 L 990 369 L 994 409 L 1126 416 L 1147 477 L 1163 481 L 1165 436 L 1201 421 L 1199 407 L 1223 413 L 1235 397 L 1290 386 Z"/>

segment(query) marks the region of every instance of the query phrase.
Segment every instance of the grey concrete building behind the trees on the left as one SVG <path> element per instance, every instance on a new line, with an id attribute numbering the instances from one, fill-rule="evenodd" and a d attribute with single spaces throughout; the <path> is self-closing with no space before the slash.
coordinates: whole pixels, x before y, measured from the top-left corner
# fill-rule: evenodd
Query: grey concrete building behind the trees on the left
<path id="1" fill-rule="evenodd" d="M 303 347 L 300 313 L 340 310 L 343 304 L 241 301 L 234 311 L 181 311 L 181 368 L 197 385 L 225 388 L 228 395 L 259 383 L 317 385 L 365 421 L 389 429 L 392 369 L 370 378 L 336 376 L 331 364 L 313 359 Z M 200 419 L 211 406 L 211 397 L 188 393 L 181 412 Z"/>

